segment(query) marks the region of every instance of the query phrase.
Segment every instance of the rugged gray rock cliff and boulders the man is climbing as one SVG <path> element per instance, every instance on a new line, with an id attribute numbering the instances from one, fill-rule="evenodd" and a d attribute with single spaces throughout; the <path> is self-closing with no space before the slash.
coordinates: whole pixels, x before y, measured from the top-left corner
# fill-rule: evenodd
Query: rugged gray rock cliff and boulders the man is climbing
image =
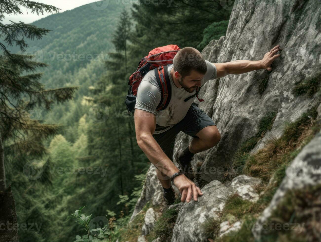
<path id="1" fill-rule="evenodd" d="M 271 130 L 264 133 L 252 149 L 252 154 L 264 148 L 268 140 L 282 136 L 284 121 L 296 121 L 312 107 L 317 108 L 317 119 L 321 120 L 320 90 L 312 95 L 294 92 L 298 83 L 309 78 L 320 78 L 319 26 L 319 1 L 235 1 L 226 37 L 212 40 L 202 51 L 204 58 L 212 63 L 258 60 L 277 44 L 282 48 L 281 57 L 274 61 L 270 72 L 257 70 L 242 75 L 228 75 L 211 80 L 202 87 L 199 96 L 205 102 L 199 103 L 199 107 L 212 117 L 221 133 L 221 140 L 212 149 L 195 155 L 192 165 L 197 171 L 196 184 L 201 184 L 204 195 L 199 197 L 198 202 L 175 205 L 179 213 L 172 241 L 206 241 L 200 224 L 206 216 L 219 216 L 215 212 L 221 211 L 229 194 L 237 193 L 251 202 L 257 200 L 255 187 L 261 185 L 261 181 L 246 176 L 236 177 L 231 164 L 241 144 L 256 135 L 262 118 L 276 113 Z M 179 134 L 174 154 L 185 148 L 191 140 L 192 137 Z M 302 171 L 292 178 L 287 174 L 270 206 L 258 219 L 258 225 L 269 218 L 287 190 L 319 183 L 321 175 L 319 170 L 316 172 L 316 166 L 321 166 L 320 144 L 318 134 L 291 162 L 291 166 L 302 166 Z M 156 199 L 157 191 L 161 192 L 161 189 L 157 187 L 159 182 L 156 174 L 152 175 L 152 169 L 153 166 L 136 205 L 136 213 L 146 201 L 161 200 Z M 289 171 L 290 168 L 287 173 Z M 295 179 L 302 172 L 304 177 Z M 241 221 L 223 221 L 220 236 L 237 231 L 240 226 Z M 260 238 L 260 229 L 252 231 L 256 238 Z"/>

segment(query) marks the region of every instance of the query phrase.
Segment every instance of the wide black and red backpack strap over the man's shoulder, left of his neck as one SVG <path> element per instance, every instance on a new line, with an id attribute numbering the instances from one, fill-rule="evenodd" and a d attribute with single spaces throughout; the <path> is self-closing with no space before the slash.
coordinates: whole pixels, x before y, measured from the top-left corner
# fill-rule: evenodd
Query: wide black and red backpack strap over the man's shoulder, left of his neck
<path id="1" fill-rule="evenodd" d="M 170 101 L 171 97 L 171 85 L 170 85 L 170 79 L 168 75 L 167 66 L 159 66 L 154 69 L 155 76 L 157 79 L 157 83 L 160 87 L 160 90 L 162 92 L 162 96 L 160 99 L 160 103 L 158 104 L 156 111 L 160 111 L 165 109 Z"/>

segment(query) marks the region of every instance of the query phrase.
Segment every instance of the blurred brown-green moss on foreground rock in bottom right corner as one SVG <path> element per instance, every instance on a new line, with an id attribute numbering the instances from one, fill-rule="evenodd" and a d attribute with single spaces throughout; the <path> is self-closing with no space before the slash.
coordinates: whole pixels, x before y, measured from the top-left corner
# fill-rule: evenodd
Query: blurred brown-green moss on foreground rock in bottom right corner
<path id="1" fill-rule="evenodd" d="M 274 209 L 267 234 L 277 240 L 317 241 L 321 234 L 321 185 L 289 190 Z M 276 229 L 279 225 L 279 229 Z"/>

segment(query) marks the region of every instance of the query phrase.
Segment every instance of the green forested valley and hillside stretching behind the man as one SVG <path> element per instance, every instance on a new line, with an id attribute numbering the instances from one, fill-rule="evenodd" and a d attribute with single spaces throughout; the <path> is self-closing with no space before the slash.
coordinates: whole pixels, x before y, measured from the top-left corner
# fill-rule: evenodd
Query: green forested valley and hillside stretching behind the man
<path id="1" fill-rule="evenodd" d="M 74 241 L 85 235 L 80 225 L 66 220 L 82 206 L 83 213 L 92 214 L 91 226 L 103 227 L 111 219 L 111 241 L 129 220 L 150 162 L 136 144 L 133 119 L 124 112 L 128 77 L 155 47 L 202 50 L 225 34 L 230 16 L 220 1 L 148 3 L 109 1 L 103 10 L 86 4 L 32 23 L 51 30 L 39 40 L 25 39 L 29 46 L 23 54 L 49 65 L 38 69 L 40 82 L 46 88 L 79 88 L 71 101 L 52 103 L 50 112 L 27 110 L 41 123 L 61 125 L 44 141 L 45 155 L 27 153 L 19 161 L 14 153 L 4 157 L 18 224 L 39 228 L 18 229 L 20 241 Z M 30 175 L 30 164 L 36 175 Z"/>

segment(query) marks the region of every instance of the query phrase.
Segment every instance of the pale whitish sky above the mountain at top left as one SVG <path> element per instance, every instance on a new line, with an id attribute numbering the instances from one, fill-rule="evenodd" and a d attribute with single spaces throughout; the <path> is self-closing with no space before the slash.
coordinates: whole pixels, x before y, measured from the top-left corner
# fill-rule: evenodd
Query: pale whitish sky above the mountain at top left
<path id="1" fill-rule="evenodd" d="M 89 4 L 92 2 L 97 2 L 97 1 L 92 1 L 92 0 L 33 0 L 35 2 L 38 3 L 44 3 L 44 4 L 49 4 L 49 5 L 53 5 L 57 8 L 60 8 L 61 10 L 59 10 L 59 13 L 62 13 L 66 10 L 71 10 L 74 9 L 76 7 L 85 5 L 85 4 Z M 3 24 L 6 23 L 10 23 L 9 20 L 13 21 L 13 22 L 18 22 L 18 21 L 22 21 L 25 23 L 32 23 L 38 19 L 44 18 L 52 13 L 46 13 L 44 12 L 42 14 L 39 13 L 39 15 L 37 15 L 37 13 L 31 13 L 30 9 L 28 9 L 28 14 L 25 8 L 21 7 L 21 10 L 23 12 L 23 14 L 21 15 L 8 15 L 8 14 L 4 14 L 5 18 L 3 20 Z M 53 12 L 56 13 L 56 12 Z"/>

